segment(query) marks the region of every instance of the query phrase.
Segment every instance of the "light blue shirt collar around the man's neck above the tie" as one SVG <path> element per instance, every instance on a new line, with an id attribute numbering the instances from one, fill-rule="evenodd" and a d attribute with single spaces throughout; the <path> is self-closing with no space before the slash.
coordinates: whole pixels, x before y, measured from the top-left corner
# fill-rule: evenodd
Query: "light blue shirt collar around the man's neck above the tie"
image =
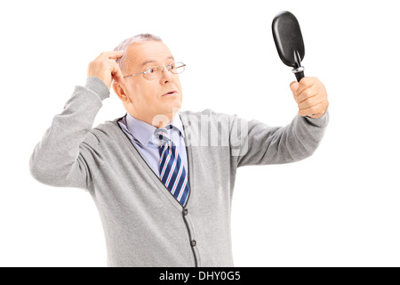
<path id="1" fill-rule="evenodd" d="M 128 131 L 136 138 L 143 146 L 147 146 L 148 142 L 153 142 L 153 134 L 156 131 L 156 126 L 152 126 L 146 122 L 143 122 L 139 118 L 132 117 L 131 114 L 126 113 L 126 127 Z M 182 121 L 179 113 L 176 113 L 172 120 L 167 124 L 173 126 L 173 131 L 179 131 L 180 134 L 185 137 L 183 132 Z M 166 126 L 165 126 L 166 127 Z M 173 139 L 172 139 L 173 141 Z"/>

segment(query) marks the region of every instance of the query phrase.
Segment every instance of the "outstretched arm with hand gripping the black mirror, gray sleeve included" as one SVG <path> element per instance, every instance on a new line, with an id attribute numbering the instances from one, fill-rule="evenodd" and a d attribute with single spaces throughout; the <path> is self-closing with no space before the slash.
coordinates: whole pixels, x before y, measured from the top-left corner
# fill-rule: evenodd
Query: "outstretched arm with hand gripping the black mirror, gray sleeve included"
<path id="1" fill-rule="evenodd" d="M 237 167 L 290 163 L 316 151 L 329 121 L 324 85 L 316 77 L 303 77 L 292 82 L 291 90 L 299 113 L 287 126 L 232 116 L 230 144 Z"/>

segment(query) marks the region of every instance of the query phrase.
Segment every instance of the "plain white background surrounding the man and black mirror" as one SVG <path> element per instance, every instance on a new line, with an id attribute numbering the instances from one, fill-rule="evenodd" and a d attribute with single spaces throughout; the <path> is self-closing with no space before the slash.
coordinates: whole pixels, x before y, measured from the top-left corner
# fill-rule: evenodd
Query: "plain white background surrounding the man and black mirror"
<path id="1" fill-rule="evenodd" d="M 306 76 L 328 91 L 330 125 L 297 163 L 239 168 L 236 266 L 399 266 L 396 1 L 13 1 L 0 4 L 1 266 L 106 266 L 87 192 L 36 182 L 28 160 L 90 61 L 153 33 L 187 69 L 182 110 L 206 108 L 285 126 L 295 79 L 271 22 L 296 15 Z M 94 126 L 124 115 L 111 92 Z"/>

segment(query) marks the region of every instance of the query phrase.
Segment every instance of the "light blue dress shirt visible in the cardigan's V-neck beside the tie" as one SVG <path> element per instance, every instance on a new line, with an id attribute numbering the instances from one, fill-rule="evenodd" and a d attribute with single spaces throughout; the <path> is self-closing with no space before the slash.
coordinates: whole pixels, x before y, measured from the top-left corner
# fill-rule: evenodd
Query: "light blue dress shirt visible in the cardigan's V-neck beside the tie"
<path id="1" fill-rule="evenodd" d="M 154 173 L 158 175 L 158 177 L 160 177 L 159 149 L 161 141 L 158 136 L 154 134 L 156 126 L 149 125 L 138 118 L 134 118 L 129 113 L 126 113 L 123 118 L 118 120 L 118 124 L 121 126 L 124 133 L 127 134 L 136 150 L 140 152 L 141 157 L 146 160 L 148 166 L 153 169 Z M 168 128 L 168 125 L 172 125 L 172 129 Z M 185 134 L 178 113 L 175 114 L 172 120 L 167 124 L 166 128 L 169 137 L 177 147 L 186 173 L 188 173 L 188 157 L 184 140 Z"/>

